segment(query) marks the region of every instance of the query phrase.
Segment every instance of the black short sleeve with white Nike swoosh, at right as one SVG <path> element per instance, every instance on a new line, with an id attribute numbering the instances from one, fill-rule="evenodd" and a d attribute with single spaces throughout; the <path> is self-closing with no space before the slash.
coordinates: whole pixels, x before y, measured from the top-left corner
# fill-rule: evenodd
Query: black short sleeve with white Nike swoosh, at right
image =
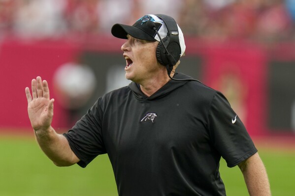
<path id="1" fill-rule="evenodd" d="M 238 115 L 232 110 L 225 96 L 218 91 L 210 106 L 208 128 L 213 145 L 230 168 L 257 152 Z"/>

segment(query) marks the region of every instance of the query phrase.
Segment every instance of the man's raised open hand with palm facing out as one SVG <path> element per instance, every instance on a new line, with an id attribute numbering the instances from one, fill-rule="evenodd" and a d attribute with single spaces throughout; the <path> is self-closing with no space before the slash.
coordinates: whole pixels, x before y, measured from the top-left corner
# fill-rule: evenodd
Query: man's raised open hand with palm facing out
<path id="1" fill-rule="evenodd" d="M 42 81 L 38 76 L 32 80 L 32 96 L 29 87 L 26 87 L 25 91 L 28 100 L 28 114 L 33 129 L 35 131 L 48 130 L 53 118 L 54 99 L 49 97 L 47 81 Z"/>

